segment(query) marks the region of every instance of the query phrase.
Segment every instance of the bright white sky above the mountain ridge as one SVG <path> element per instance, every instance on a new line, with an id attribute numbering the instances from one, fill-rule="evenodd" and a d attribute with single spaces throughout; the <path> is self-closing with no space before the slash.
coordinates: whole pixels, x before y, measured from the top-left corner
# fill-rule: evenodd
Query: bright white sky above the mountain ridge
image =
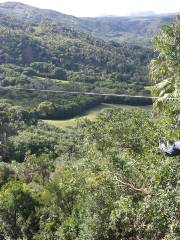
<path id="1" fill-rule="evenodd" d="M 145 11 L 155 13 L 180 11 L 180 0 L 19 0 L 19 2 L 77 17 L 125 16 Z"/>

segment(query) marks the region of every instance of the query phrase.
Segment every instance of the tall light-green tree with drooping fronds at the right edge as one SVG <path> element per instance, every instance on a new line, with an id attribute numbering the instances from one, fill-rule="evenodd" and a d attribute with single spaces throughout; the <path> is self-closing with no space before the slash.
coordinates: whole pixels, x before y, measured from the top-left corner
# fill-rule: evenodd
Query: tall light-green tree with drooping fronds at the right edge
<path id="1" fill-rule="evenodd" d="M 158 97 L 154 106 L 174 113 L 180 101 L 180 17 L 164 26 L 153 42 L 157 57 L 150 63 L 151 92 Z"/>

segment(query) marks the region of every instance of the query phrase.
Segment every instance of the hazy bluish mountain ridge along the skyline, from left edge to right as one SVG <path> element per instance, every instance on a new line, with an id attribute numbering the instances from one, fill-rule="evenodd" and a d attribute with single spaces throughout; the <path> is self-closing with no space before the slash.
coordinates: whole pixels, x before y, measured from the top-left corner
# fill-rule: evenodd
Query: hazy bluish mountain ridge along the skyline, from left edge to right
<path id="1" fill-rule="evenodd" d="M 106 40 L 140 41 L 159 32 L 161 26 L 171 22 L 175 14 L 157 15 L 153 12 L 135 13 L 134 16 L 105 16 L 77 18 L 54 10 L 39 9 L 19 2 L 0 3 L 0 14 L 16 18 L 23 23 L 38 24 L 53 21 L 68 28 L 85 31 Z M 138 15 L 139 14 L 139 15 Z"/>

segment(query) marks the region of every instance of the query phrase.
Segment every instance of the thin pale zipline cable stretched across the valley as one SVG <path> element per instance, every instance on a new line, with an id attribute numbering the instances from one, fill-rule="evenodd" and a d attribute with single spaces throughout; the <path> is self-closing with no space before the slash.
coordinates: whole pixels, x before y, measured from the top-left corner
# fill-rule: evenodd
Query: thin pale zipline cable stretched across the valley
<path id="1" fill-rule="evenodd" d="M 66 91 L 66 90 L 51 90 L 51 89 L 35 89 L 35 88 L 22 88 L 22 87 L 2 87 L 0 90 L 18 90 L 18 91 L 29 91 L 29 92 L 44 92 L 44 93 L 64 93 L 70 95 L 88 95 L 88 96 L 111 96 L 111 97 L 127 97 L 127 98 L 144 98 L 144 99 L 159 99 L 159 97 L 144 96 L 144 95 L 128 95 L 128 94 L 116 94 L 116 93 L 96 93 L 96 92 L 85 92 L 85 91 Z M 166 99 L 177 100 L 180 97 L 167 97 Z"/>

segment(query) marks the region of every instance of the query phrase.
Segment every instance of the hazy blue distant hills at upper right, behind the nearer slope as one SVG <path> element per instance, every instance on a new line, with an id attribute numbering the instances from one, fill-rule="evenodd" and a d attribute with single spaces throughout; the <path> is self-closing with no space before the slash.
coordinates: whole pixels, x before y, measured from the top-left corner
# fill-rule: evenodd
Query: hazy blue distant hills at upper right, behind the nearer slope
<path id="1" fill-rule="evenodd" d="M 151 47 L 151 38 L 176 15 L 83 18 L 83 21 L 88 31 L 100 38 Z"/>

